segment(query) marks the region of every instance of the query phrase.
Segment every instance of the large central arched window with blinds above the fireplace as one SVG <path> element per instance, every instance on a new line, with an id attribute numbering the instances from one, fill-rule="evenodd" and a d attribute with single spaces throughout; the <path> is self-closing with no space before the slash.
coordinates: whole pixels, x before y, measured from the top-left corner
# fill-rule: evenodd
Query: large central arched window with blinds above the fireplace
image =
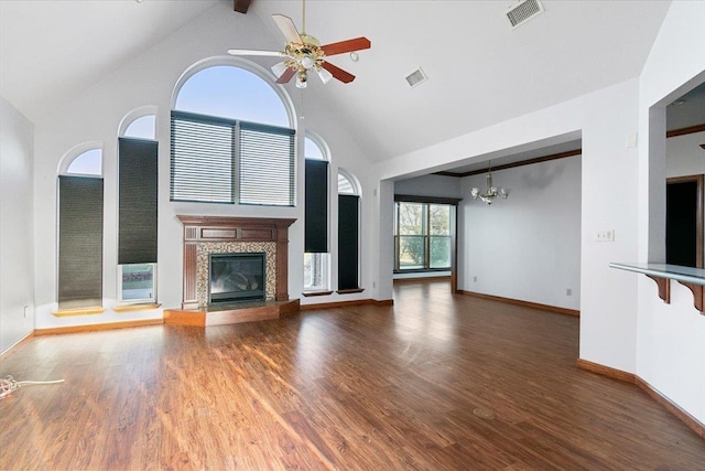
<path id="1" fill-rule="evenodd" d="M 293 107 L 265 73 L 238 64 L 199 66 L 180 81 L 171 200 L 293 206 Z"/>

